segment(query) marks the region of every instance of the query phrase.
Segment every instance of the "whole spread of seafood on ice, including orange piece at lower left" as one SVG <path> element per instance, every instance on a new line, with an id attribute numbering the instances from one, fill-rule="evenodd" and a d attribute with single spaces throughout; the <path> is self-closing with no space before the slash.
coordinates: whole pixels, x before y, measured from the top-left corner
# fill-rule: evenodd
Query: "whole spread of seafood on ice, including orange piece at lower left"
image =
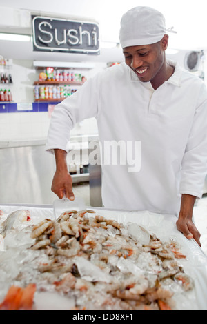
<path id="1" fill-rule="evenodd" d="M 17 231 L 13 218 L 10 214 L 1 231 L 10 248 L 0 252 L 0 272 L 8 267 L 11 250 L 16 267 L 2 301 L 0 296 L 0 310 L 35 310 L 31 300 L 41 292 L 68 298 L 70 310 L 179 310 L 177 294 L 193 290 L 193 279 L 179 263 L 186 259 L 179 243 L 161 241 L 137 223 L 124 225 L 94 210 L 70 210 Z M 11 232 L 19 247 L 10 243 Z M 11 305 L 15 291 L 20 297 Z M 27 294 L 25 305 L 21 296 Z"/>

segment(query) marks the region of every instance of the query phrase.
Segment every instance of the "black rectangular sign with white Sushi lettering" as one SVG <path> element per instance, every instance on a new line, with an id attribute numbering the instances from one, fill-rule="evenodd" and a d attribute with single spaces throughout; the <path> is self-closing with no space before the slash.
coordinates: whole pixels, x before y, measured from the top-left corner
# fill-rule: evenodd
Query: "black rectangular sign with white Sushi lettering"
<path id="1" fill-rule="evenodd" d="M 32 16 L 32 33 L 34 51 L 100 54 L 97 23 Z"/>

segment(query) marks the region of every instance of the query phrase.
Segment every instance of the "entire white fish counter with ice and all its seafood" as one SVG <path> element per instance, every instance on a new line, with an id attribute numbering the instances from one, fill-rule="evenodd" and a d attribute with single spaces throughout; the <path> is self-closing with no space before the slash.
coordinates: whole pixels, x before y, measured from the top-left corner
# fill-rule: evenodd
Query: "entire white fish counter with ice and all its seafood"
<path id="1" fill-rule="evenodd" d="M 0 310 L 207 310 L 206 255 L 176 220 L 0 205 Z"/>

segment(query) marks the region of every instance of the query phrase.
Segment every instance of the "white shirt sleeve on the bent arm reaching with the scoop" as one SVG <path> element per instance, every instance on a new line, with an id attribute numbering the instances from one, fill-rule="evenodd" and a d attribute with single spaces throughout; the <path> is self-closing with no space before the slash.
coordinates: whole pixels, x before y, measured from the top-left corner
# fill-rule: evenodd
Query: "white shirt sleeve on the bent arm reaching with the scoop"
<path id="1" fill-rule="evenodd" d="M 68 152 L 70 131 L 76 123 L 91 117 L 97 117 L 99 74 L 88 79 L 77 92 L 55 106 L 52 112 L 46 151 L 54 153 L 59 148 Z"/>

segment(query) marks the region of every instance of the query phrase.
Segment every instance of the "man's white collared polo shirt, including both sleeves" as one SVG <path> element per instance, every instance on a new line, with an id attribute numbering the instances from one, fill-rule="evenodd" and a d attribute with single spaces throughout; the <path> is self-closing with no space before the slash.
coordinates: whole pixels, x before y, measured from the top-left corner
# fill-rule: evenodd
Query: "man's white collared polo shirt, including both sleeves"
<path id="1" fill-rule="evenodd" d="M 206 85 L 169 63 L 175 72 L 157 90 L 121 63 L 88 79 L 52 114 L 46 150 L 67 151 L 75 123 L 96 117 L 101 148 L 115 141 L 121 144 L 120 159 L 126 152 L 137 153 L 126 159 L 128 163 L 103 163 L 105 207 L 178 215 L 181 194 L 202 196 L 207 173 Z"/>

